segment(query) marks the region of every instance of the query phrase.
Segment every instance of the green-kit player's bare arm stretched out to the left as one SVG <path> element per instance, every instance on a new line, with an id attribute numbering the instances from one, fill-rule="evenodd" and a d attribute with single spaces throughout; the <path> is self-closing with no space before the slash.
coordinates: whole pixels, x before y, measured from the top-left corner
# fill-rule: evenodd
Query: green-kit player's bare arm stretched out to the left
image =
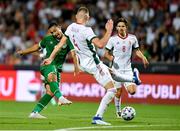
<path id="1" fill-rule="evenodd" d="M 26 54 L 30 54 L 30 53 L 38 51 L 39 48 L 40 48 L 39 45 L 35 44 L 35 45 L 25 49 L 25 50 L 17 51 L 16 53 L 19 54 L 19 55 L 26 55 Z"/>

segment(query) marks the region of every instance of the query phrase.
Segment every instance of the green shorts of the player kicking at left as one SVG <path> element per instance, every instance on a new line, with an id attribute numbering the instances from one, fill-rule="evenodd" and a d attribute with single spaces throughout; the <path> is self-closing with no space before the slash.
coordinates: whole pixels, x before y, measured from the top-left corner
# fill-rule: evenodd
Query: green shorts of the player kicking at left
<path id="1" fill-rule="evenodd" d="M 48 83 L 48 75 L 50 73 L 54 73 L 56 76 L 57 76 L 57 82 L 59 83 L 60 82 L 60 73 L 58 72 L 56 66 L 54 65 L 43 65 L 43 66 L 40 66 L 40 72 L 41 74 L 44 76 L 45 78 L 45 81 L 44 83 L 47 84 Z"/>

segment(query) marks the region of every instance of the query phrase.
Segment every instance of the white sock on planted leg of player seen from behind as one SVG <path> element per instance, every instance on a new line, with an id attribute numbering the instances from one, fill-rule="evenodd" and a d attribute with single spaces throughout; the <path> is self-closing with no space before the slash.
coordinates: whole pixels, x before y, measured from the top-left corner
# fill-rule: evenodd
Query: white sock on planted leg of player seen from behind
<path id="1" fill-rule="evenodd" d="M 101 103 L 99 105 L 99 108 L 98 108 L 95 116 L 98 116 L 101 118 L 103 117 L 103 114 L 106 111 L 108 104 L 114 98 L 115 93 L 116 93 L 116 88 L 111 88 L 111 89 L 107 90 L 106 94 L 104 95 L 104 97 L 101 100 Z"/>

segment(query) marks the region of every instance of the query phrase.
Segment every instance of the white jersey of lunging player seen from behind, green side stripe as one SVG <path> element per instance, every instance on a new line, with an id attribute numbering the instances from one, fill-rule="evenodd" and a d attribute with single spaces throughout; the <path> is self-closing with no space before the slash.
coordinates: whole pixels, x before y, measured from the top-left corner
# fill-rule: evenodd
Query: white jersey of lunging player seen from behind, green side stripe
<path id="1" fill-rule="evenodd" d="M 65 31 L 65 35 L 73 43 L 79 57 L 80 66 L 86 68 L 86 72 L 92 73 L 92 68 L 100 63 L 95 46 L 91 42 L 96 37 L 91 27 L 72 23 Z"/>

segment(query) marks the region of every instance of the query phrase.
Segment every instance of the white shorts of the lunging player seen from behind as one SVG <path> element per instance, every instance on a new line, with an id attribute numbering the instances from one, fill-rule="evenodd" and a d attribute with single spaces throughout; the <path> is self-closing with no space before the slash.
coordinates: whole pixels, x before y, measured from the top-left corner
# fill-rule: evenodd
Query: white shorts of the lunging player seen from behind
<path id="1" fill-rule="evenodd" d="M 114 81 L 111 77 L 108 67 L 103 63 L 91 66 L 91 69 L 85 67 L 81 67 L 81 69 L 89 74 L 92 74 L 96 81 L 103 87 L 110 81 Z"/>

